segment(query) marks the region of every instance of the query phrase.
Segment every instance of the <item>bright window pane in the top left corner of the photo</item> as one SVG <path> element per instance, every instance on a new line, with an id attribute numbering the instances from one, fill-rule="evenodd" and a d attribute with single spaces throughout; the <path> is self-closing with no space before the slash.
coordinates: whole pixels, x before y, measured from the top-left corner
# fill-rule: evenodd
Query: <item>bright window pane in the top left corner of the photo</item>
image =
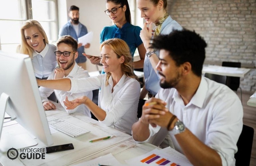
<path id="1" fill-rule="evenodd" d="M 0 1 L 0 19 L 25 20 L 25 0 Z M 3 25 L 3 24 L 1 24 Z"/>

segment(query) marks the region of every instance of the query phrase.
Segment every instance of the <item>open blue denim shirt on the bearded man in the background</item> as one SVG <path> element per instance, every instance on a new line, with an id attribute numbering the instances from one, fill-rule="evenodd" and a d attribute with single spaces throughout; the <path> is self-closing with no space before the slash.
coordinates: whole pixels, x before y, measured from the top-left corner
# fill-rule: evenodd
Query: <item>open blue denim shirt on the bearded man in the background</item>
<path id="1" fill-rule="evenodd" d="M 71 20 L 69 20 L 63 27 L 62 29 L 60 30 L 60 33 L 59 33 L 59 38 L 64 36 L 64 35 L 70 35 L 72 36 L 76 41 L 78 41 L 78 38 L 86 35 L 88 32 L 87 32 L 87 28 L 81 24 L 81 23 L 78 23 L 78 27 L 79 27 L 79 32 L 78 32 L 78 36 L 76 35 L 75 33 L 75 30 L 71 24 Z M 80 46 L 79 48 L 77 48 L 77 51 L 78 51 L 78 57 L 75 59 L 75 62 L 76 63 L 83 63 L 86 61 L 86 57 L 82 54 L 84 53 L 84 47 L 83 46 Z"/>

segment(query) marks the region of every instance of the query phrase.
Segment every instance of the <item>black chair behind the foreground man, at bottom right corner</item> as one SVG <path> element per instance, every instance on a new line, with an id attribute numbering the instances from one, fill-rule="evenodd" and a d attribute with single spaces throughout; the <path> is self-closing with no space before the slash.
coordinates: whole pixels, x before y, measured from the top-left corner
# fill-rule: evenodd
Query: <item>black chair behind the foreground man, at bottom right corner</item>
<path id="1" fill-rule="evenodd" d="M 237 141 L 238 151 L 235 154 L 236 166 L 249 166 L 251 160 L 254 129 L 243 124 L 242 132 Z"/>

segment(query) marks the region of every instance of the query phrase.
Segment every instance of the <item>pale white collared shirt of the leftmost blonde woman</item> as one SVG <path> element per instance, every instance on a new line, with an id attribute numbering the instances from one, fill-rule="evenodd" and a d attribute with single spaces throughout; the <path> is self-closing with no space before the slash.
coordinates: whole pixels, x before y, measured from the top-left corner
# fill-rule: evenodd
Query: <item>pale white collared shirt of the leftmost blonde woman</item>
<path id="1" fill-rule="evenodd" d="M 55 50 L 55 45 L 46 43 L 45 48 L 40 53 L 33 51 L 32 64 L 36 77 L 47 78 L 58 66 L 54 54 Z"/>

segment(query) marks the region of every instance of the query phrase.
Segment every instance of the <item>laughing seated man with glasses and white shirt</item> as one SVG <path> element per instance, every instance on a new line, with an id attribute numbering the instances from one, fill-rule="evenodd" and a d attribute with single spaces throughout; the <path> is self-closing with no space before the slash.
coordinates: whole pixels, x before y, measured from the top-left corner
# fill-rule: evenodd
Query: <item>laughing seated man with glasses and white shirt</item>
<path id="1" fill-rule="evenodd" d="M 77 41 L 69 35 L 62 36 L 57 41 L 57 50 L 54 51 L 56 55 L 57 62 L 59 64 L 59 68 L 56 68 L 52 74 L 48 77 L 48 80 L 52 79 L 60 79 L 60 78 L 85 78 L 89 77 L 89 74 L 86 70 L 79 67 L 75 59 L 78 57 L 77 50 Z M 65 97 L 68 100 L 73 100 L 81 96 L 87 96 L 89 99 L 92 99 L 92 91 L 84 92 L 84 93 L 70 93 L 67 91 L 59 91 L 53 90 L 45 87 L 39 88 L 40 96 L 42 98 L 43 106 L 45 110 L 55 110 L 56 106 L 53 102 L 49 101 L 47 97 L 55 92 L 55 95 L 58 101 L 65 108 L 63 101 Z M 66 110 L 68 114 L 72 114 L 74 112 L 80 112 L 85 116 L 91 117 L 90 110 L 85 105 L 80 105 L 73 110 Z"/>

